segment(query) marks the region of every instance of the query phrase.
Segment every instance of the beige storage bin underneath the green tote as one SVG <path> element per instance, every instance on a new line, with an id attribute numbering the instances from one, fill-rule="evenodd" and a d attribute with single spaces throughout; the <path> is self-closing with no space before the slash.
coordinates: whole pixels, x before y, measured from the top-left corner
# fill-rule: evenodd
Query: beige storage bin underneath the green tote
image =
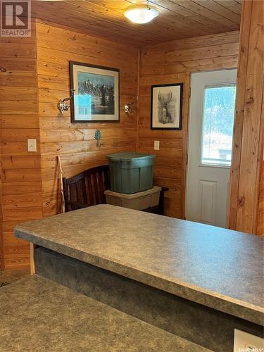
<path id="1" fill-rule="evenodd" d="M 122 206 L 135 210 L 144 210 L 152 206 L 158 206 L 161 187 L 154 186 L 147 191 L 134 194 L 123 194 L 113 191 L 104 191 L 106 203 L 112 206 Z"/>

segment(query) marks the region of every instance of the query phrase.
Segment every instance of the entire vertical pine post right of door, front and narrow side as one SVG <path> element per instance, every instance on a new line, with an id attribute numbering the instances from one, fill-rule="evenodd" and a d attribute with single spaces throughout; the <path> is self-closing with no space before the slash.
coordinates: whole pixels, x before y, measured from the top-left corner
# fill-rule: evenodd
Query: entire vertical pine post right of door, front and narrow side
<path id="1" fill-rule="evenodd" d="M 244 1 L 241 60 L 237 90 L 237 120 L 232 156 L 230 228 L 257 232 L 258 189 L 262 149 L 263 1 Z M 244 51 L 244 42 L 248 50 Z"/>

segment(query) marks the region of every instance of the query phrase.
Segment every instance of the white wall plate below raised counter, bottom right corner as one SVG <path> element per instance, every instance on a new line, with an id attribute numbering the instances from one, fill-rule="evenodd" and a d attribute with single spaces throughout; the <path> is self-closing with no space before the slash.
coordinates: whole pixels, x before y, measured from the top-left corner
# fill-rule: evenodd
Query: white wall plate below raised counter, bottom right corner
<path id="1" fill-rule="evenodd" d="M 263 352 L 264 339 L 238 329 L 234 329 L 234 352 Z"/>

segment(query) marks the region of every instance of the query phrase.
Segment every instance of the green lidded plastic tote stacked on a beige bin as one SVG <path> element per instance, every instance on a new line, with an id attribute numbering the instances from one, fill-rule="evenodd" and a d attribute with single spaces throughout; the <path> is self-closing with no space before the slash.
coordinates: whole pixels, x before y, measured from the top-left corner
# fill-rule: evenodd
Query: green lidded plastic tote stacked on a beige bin
<path id="1" fill-rule="evenodd" d="M 127 152 L 113 153 L 107 157 L 111 191 L 133 194 L 151 189 L 155 156 Z"/>

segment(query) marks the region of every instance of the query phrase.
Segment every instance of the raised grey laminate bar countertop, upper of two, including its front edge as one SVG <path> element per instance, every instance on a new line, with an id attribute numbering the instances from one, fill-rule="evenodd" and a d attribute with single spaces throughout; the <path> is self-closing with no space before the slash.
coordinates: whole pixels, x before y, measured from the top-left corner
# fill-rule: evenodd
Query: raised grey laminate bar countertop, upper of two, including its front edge
<path id="1" fill-rule="evenodd" d="M 263 238 L 110 205 L 27 222 L 15 234 L 263 324 Z"/>

